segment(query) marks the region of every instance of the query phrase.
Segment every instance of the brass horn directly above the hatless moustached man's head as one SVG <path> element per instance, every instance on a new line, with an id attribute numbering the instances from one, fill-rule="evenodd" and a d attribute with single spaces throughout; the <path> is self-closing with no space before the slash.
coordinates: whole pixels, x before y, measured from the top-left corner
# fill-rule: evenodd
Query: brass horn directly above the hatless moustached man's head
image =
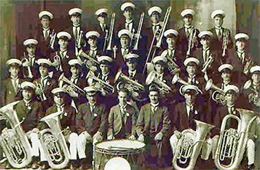
<path id="1" fill-rule="evenodd" d="M 160 90 L 162 90 L 163 94 L 166 93 L 170 93 L 171 92 L 171 87 L 169 87 L 167 84 L 165 84 L 164 82 L 162 82 L 161 80 L 159 80 L 156 77 L 156 73 L 154 71 L 152 71 L 151 73 L 149 73 L 149 75 L 147 76 L 147 80 L 145 81 L 145 84 L 150 85 L 154 83 L 155 85 L 158 86 L 158 88 L 160 88 Z"/>

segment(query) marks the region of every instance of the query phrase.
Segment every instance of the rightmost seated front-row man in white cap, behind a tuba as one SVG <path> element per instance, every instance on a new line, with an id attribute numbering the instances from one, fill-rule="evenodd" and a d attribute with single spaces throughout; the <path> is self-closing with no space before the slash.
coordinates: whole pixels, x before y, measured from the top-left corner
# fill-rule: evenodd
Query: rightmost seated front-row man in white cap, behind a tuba
<path id="1" fill-rule="evenodd" d="M 238 104 L 237 104 L 237 95 L 239 93 L 239 88 L 235 85 L 228 85 L 226 86 L 226 88 L 224 88 L 224 95 L 226 97 L 226 105 L 217 108 L 217 114 L 215 116 L 215 119 L 213 120 L 213 125 L 215 125 L 216 127 L 213 129 L 211 136 L 214 136 L 212 138 L 212 151 L 213 151 L 213 159 L 215 159 L 215 151 L 217 149 L 217 143 L 219 140 L 219 133 L 220 133 L 220 128 L 221 128 L 221 123 L 223 122 L 223 119 L 226 115 L 228 114 L 234 114 L 237 117 L 239 116 L 239 113 L 237 112 L 236 108 L 238 108 Z M 240 118 L 241 119 L 241 118 Z M 255 121 L 254 121 L 255 122 Z M 235 121 L 235 119 L 231 119 L 230 121 L 227 121 L 228 128 L 232 127 L 237 129 L 238 127 L 238 123 L 237 121 Z M 254 127 L 255 124 L 253 123 L 251 129 L 250 129 L 250 134 L 248 136 L 248 141 L 244 141 L 246 142 L 246 156 L 248 158 L 248 166 L 246 167 L 246 169 L 254 169 Z M 243 154 L 243 153 L 240 153 Z M 228 160 L 223 160 L 224 162 L 228 161 Z M 246 163 L 245 160 L 242 160 L 242 165 L 244 165 Z M 239 166 L 239 169 L 242 169 L 241 166 Z M 243 168 L 244 169 L 244 168 Z"/>

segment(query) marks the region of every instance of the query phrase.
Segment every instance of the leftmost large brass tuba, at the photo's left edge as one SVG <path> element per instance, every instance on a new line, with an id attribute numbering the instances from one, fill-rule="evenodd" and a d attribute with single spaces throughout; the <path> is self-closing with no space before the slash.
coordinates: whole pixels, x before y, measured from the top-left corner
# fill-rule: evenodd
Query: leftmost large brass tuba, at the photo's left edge
<path id="1" fill-rule="evenodd" d="M 18 102 L 14 101 L 0 108 L 1 117 L 4 117 L 12 127 L 12 129 L 3 130 L 0 136 L 0 143 L 10 165 L 20 169 L 29 165 L 32 161 L 32 148 L 25 132 L 21 128 L 17 112 L 13 108 Z"/>

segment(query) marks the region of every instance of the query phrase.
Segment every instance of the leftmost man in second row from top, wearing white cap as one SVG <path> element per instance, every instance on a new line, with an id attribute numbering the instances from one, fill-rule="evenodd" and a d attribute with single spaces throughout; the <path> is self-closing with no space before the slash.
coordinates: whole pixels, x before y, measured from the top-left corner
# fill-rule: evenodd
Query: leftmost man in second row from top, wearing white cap
<path id="1" fill-rule="evenodd" d="M 23 41 L 23 45 L 26 47 L 26 54 L 23 53 L 23 57 L 21 57 L 23 77 L 29 81 L 39 77 L 39 65 L 36 63 L 38 59 L 38 56 L 36 56 L 36 45 L 38 43 L 38 40 L 32 38 Z"/>

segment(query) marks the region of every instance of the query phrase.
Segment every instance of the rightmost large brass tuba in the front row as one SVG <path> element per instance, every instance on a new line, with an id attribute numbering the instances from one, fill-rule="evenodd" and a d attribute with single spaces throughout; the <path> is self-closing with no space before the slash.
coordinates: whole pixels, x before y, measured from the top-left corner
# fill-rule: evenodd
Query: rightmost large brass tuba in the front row
<path id="1" fill-rule="evenodd" d="M 215 165 L 217 169 L 238 169 L 246 149 L 250 127 L 253 121 L 257 119 L 257 112 L 253 112 L 252 110 L 237 108 L 236 111 L 239 112 L 240 119 L 234 114 L 228 114 L 221 123 L 219 141 L 215 153 Z M 227 121 L 231 118 L 237 120 L 237 129 L 226 129 Z M 221 164 L 221 161 L 226 159 L 230 160 L 230 164 Z"/>

